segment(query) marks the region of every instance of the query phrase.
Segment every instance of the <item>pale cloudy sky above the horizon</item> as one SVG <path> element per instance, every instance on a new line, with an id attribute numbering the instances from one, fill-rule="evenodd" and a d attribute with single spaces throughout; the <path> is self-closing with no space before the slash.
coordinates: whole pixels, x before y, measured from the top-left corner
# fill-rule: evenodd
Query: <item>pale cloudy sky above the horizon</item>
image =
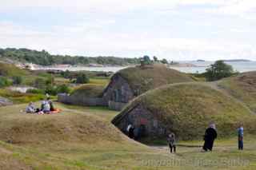
<path id="1" fill-rule="evenodd" d="M 255 0 L 0 0 L 0 48 L 256 60 Z"/>

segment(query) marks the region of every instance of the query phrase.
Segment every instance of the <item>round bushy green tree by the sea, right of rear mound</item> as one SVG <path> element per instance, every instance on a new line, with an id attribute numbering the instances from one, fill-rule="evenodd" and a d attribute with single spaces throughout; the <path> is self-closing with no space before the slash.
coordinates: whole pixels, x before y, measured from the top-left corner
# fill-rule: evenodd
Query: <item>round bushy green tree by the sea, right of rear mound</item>
<path id="1" fill-rule="evenodd" d="M 234 74 L 234 69 L 231 65 L 227 65 L 224 61 L 216 61 L 206 69 L 207 81 L 218 81 L 224 77 L 230 77 Z"/>

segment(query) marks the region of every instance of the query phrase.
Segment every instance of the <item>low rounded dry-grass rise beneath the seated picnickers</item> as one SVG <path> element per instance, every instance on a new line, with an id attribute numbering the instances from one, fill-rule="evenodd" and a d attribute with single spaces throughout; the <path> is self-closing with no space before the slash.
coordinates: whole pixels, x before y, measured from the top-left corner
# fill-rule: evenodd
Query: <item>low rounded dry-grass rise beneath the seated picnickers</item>
<path id="1" fill-rule="evenodd" d="M 60 114 L 21 113 L 26 105 L 0 109 L 0 140 L 10 144 L 47 144 L 51 142 L 122 141 L 122 134 L 107 121 L 64 109 Z"/>

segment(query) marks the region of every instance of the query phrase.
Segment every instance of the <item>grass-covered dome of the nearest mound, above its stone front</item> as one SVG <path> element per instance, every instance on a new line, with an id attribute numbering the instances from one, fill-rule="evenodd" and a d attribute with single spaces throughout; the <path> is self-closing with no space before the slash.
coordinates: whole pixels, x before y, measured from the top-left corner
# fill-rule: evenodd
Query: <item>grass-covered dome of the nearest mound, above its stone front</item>
<path id="1" fill-rule="evenodd" d="M 113 122 L 122 120 L 128 110 L 141 105 L 179 139 L 202 139 L 205 128 L 214 121 L 219 136 L 236 132 L 239 122 L 254 132 L 256 116 L 248 109 L 208 85 L 185 83 L 166 85 L 137 97 Z M 115 123 L 114 123 L 115 124 Z"/>

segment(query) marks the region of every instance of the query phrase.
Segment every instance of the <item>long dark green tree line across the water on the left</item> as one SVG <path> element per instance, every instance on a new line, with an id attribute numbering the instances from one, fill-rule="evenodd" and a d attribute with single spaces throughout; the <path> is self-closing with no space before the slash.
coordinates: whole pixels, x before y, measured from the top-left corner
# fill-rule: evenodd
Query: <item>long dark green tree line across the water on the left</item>
<path id="1" fill-rule="evenodd" d="M 0 59 L 6 58 L 13 61 L 33 63 L 36 65 L 134 65 L 139 64 L 140 59 L 121 57 L 83 57 L 70 55 L 52 55 L 46 50 L 0 48 Z"/>

